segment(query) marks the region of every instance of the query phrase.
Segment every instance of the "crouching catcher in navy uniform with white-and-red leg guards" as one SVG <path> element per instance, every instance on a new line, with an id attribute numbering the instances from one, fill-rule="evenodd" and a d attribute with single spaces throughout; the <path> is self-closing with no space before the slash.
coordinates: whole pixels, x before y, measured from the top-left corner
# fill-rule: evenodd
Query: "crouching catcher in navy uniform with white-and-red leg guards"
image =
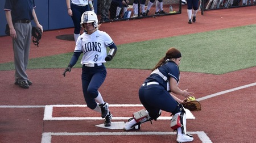
<path id="1" fill-rule="evenodd" d="M 161 111 L 171 112 L 178 122 L 180 120 L 181 125 L 171 125 L 171 128 L 177 131 L 177 142 L 193 141 L 193 136 L 186 133 L 186 114 L 181 103 L 184 100 L 180 100 L 176 96 L 170 94 L 174 92 L 177 95 L 182 95 L 188 98 L 193 94 L 187 90 L 180 90 L 177 84 L 180 79 L 179 64 L 181 60 L 181 53 L 175 48 L 170 48 L 155 68 L 152 69 L 152 73 L 139 89 L 139 100 L 143 104 L 146 110 L 141 110 L 134 113 L 134 117 L 129 119 L 125 123 L 124 129 L 130 130 L 136 128 L 140 124 L 156 120 Z M 176 117 L 176 118 L 175 118 Z"/>

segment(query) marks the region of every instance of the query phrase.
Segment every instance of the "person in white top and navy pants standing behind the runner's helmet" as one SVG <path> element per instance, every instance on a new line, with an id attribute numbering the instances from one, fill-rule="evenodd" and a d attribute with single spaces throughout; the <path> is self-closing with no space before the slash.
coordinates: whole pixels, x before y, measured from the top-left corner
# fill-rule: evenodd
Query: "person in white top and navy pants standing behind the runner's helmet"
<path id="1" fill-rule="evenodd" d="M 74 39 L 75 43 L 77 38 L 80 36 L 81 30 L 81 16 L 85 11 L 92 10 L 94 12 L 94 7 L 92 0 L 66 0 L 68 15 L 71 16 L 73 24 L 75 27 L 74 30 Z"/>

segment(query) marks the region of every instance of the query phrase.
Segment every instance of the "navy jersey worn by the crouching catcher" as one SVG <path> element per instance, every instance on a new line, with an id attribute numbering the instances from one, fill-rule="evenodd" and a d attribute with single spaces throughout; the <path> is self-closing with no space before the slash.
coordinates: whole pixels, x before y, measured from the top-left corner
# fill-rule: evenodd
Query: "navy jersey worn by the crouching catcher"
<path id="1" fill-rule="evenodd" d="M 159 74 L 153 73 L 151 74 L 145 82 L 152 82 L 156 81 L 160 85 L 164 87 L 164 89 L 167 89 L 167 82 L 169 82 L 169 79 L 172 77 L 176 79 L 177 83 L 179 83 L 180 79 L 180 70 L 179 66 L 172 61 L 166 62 L 164 65 L 160 66 L 158 68 L 159 72 L 162 73 L 165 77 L 167 77 L 167 81 L 165 81 L 162 77 L 160 77 Z M 169 84 L 168 84 L 169 85 Z"/>

